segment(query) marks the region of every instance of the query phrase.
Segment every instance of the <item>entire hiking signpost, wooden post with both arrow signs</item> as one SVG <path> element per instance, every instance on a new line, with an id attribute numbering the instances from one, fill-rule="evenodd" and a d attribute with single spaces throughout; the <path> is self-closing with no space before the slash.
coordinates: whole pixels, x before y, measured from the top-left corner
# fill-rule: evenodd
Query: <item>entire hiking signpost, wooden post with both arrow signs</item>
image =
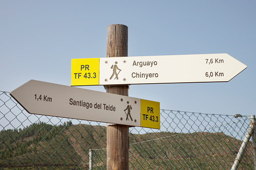
<path id="1" fill-rule="evenodd" d="M 160 129 L 159 102 L 128 97 L 129 84 L 225 82 L 246 68 L 228 54 L 127 56 L 128 27 L 110 25 L 107 58 L 71 61 L 71 86 L 104 85 L 107 93 L 31 80 L 10 94 L 29 113 L 112 123 L 107 169 L 128 170 L 129 126 Z"/>

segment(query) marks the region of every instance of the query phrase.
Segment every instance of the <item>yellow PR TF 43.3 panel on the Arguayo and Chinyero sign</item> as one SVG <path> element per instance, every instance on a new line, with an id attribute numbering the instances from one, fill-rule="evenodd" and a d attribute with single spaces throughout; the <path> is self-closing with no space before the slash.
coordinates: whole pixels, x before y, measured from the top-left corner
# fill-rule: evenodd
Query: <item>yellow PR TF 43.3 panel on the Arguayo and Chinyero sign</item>
<path id="1" fill-rule="evenodd" d="M 100 58 L 71 59 L 71 86 L 99 85 Z"/>

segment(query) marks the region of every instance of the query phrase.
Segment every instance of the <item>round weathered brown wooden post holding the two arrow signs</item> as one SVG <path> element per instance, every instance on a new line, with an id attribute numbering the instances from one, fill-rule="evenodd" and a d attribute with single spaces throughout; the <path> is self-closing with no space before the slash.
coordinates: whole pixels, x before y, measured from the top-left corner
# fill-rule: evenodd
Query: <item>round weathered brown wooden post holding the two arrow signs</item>
<path id="1" fill-rule="evenodd" d="M 120 24 L 108 26 L 107 57 L 127 56 L 128 27 Z M 128 85 L 106 86 L 106 91 L 128 96 Z M 127 125 L 107 125 L 107 170 L 112 169 L 129 169 L 129 126 Z"/>

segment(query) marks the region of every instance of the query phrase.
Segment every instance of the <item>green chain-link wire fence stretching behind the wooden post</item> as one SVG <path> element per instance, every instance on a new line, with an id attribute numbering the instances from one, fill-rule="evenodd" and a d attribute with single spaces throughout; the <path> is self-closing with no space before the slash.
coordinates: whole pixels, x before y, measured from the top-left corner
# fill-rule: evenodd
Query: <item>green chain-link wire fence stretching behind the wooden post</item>
<path id="1" fill-rule="evenodd" d="M 160 110 L 160 130 L 130 127 L 130 169 L 230 169 L 248 116 Z M 2 169 L 106 169 L 106 123 L 27 113 L 0 92 Z M 251 142 L 239 169 L 253 169 Z"/>

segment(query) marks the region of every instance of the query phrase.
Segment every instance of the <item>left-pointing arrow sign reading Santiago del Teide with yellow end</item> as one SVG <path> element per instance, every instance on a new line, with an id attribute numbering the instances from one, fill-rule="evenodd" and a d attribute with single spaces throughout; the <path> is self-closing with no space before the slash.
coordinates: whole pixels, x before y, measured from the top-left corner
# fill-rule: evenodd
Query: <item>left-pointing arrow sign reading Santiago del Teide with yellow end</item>
<path id="1" fill-rule="evenodd" d="M 160 128 L 159 102 L 36 80 L 10 94 L 33 114 Z"/>

